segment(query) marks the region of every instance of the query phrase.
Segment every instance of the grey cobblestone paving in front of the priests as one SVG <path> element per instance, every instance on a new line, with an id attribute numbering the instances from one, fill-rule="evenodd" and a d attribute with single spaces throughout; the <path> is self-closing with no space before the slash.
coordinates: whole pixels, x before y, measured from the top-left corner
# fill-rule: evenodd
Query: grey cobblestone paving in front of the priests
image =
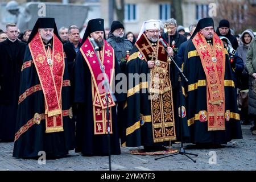
<path id="1" fill-rule="evenodd" d="M 158 156 L 131 155 L 130 148 L 121 148 L 121 155 L 112 155 L 112 170 L 131 171 L 166 171 L 166 170 L 256 170 L 256 136 L 250 133 L 251 126 L 242 126 L 243 139 L 232 140 L 222 148 L 196 149 L 192 144 L 184 144 L 186 152 L 193 152 L 193 163 L 184 155 L 154 160 Z M 70 151 L 66 158 L 46 160 L 38 164 L 35 159 L 13 158 L 14 143 L 0 143 L 0 170 L 108 170 L 108 156 L 85 157 Z M 173 148 L 179 149 L 179 144 Z M 217 155 L 216 164 L 209 164 L 210 151 Z"/>

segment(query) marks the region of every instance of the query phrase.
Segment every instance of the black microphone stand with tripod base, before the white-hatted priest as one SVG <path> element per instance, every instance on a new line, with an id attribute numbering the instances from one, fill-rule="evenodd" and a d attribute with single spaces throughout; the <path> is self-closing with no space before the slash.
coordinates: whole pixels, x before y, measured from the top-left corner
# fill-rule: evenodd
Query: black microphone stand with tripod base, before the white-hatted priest
<path id="1" fill-rule="evenodd" d="M 163 46 L 164 47 L 164 46 Z M 167 52 L 167 49 L 166 47 L 164 47 L 164 50 Z M 170 154 L 170 155 L 166 155 L 166 156 L 163 156 L 163 157 L 160 157 L 160 158 L 155 158 L 155 160 L 158 160 L 158 159 L 162 159 L 162 158 L 167 158 L 169 156 L 174 156 L 174 155 L 178 155 L 178 154 L 181 154 L 181 155 L 185 155 L 187 156 L 187 158 L 191 159 L 194 163 L 196 163 L 196 160 L 193 160 L 191 157 L 189 157 L 188 155 L 194 155 L 194 156 L 198 156 L 197 154 L 192 154 L 192 153 L 188 153 L 188 152 L 185 152 L 185 149 L 183 148 L 183 123 L 182 123 L 182 114 L 181 114 L 181 97 L 182 97 L 182 79 L 181 79 L 181 76 L 184 78 L 184 80 L 186 82 L 188 82 L 188 79 L 187 77 L 185 77 L 185 75 L 183 74 L 183 72 L 181 71 L 181 69 L 178 67 L 178 65 L 176 64 L 176 62 L 174 61 L 174 59 L 172 59 L 172 56 L 167 52 L 167 54 L 170 56 L 172 62 L 175 64 L 176 68 L 178 69 L 178 80 L 179 80 L 179 108 L 180 108 L 180 111 L 179 111 L 179 128 L 180 128 L 180 143 L 181 143 L 181 146 L 180 146 L 180 151 L 175 153 L 175 154 Z M 171 79 L 171 61 L 168 61 L 168 64 L 169 64 L 169 76 L 170 76 L 170 79 Z"/>

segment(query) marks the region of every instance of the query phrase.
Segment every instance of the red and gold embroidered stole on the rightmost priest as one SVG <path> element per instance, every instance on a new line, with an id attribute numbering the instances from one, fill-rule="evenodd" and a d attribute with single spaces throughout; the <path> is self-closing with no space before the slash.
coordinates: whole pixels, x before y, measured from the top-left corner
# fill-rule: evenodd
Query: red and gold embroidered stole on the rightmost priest
<path id="1" fill-rule="evenodd" d="M 214 32 L 213 45 L 198 32 L 192 40 L 199 53 L 207 80 L 208 131 L 225 130 L 225 49 Z"/>

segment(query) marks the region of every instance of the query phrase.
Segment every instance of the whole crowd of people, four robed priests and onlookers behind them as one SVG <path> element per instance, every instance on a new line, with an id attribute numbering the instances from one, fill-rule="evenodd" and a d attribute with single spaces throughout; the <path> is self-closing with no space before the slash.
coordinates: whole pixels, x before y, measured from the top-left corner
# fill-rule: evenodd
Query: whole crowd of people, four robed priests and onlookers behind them
<path id="1" fill-rule="evenodd" d="M 138 37 L 96 18 L 82 38 L 76 25 L 58 31 L 54 18 L 39 18 L 18 33 L 14 23 L 0 31 L 0 142 L 14 142 L 15 158 L 166 151 L 181 137 L 221 147 L 242 139 L 241 124 L 256 135 L 250 29 L 239 44 L 228 20 L 214 29 L 212 18 L 189 32 L 173 18 L 150 19 Z"/>

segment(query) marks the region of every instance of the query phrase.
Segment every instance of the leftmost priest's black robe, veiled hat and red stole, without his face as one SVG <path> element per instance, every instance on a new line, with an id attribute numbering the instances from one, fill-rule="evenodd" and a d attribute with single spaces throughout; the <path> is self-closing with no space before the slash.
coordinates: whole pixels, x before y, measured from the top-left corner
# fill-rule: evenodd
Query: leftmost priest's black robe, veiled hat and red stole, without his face
<path id="1" fill-rule="evenodd" d="M 60 158 L 75 148 L 68 64 L 53 24 L 53 18 L 39 18 L 26 48 L 13 151 L 16 158 L 36 158 L 39 151 L 46 152 L 46 158 Z M 53 27 L 51 46 L 45 45 L 38 28 Z"/>

